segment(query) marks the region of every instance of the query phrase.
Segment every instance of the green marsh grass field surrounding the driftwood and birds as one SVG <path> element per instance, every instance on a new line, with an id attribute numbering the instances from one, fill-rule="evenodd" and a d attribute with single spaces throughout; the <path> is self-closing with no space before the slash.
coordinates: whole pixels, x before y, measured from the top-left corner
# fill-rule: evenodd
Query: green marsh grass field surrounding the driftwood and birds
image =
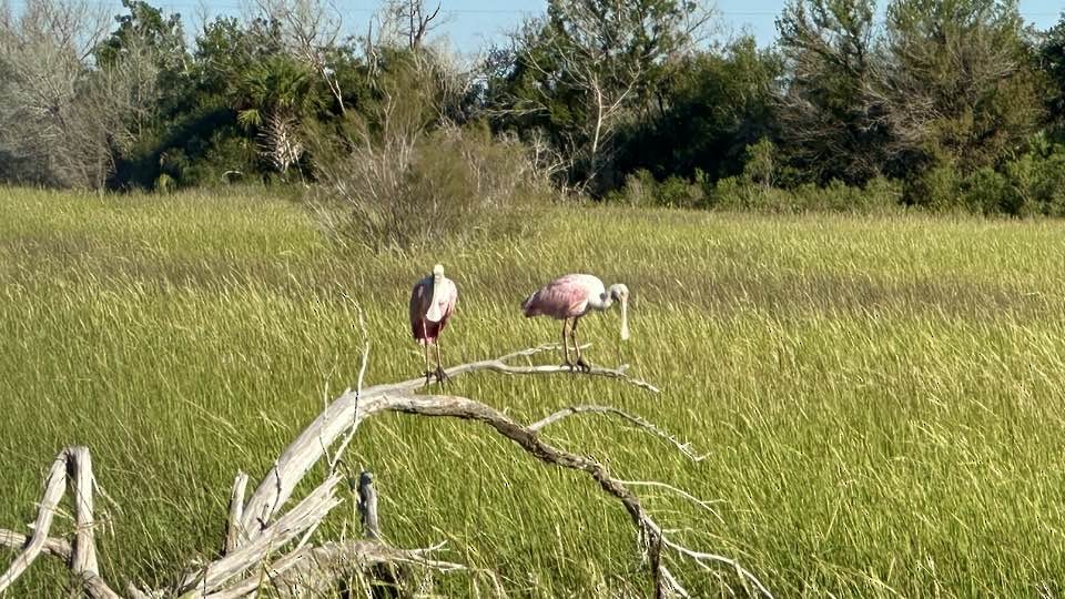
<path id="1" fill-rule="evenodd" d="M 555 275 L 627 283 L 632 339 L 620 346 L 616 312 L 589 317 L 589 357 L 661 395 L 491 374 L 449 390 L 523 420 L 609 403 L 690 440 L 706 459 L 596 417 L 548 430 L 621 478 L 713 501 L 639 489 L 677 538 L 777 596 L 1065 592 L 1065 223 L 542 219 L 530 238 L 375 256 L 333 251 L 297 205 L 250 193 L 0 190 L 0 527 L 26 531 L 52 457 L 84 444 L 114 500 L 104 577 L 163 585 L 214 555 L 236 470 L 257 480 L 356 380 L 359 309 L 369 383 L 422 369 L 406 301 L 439 261 L 460 292 L 452 363 L 555 341 L 556 322 L 518 309 Z M 349 461 L 375 471 L 390 540 L 447 540 L 442 558 L 494 570 L 511 596 L 648 592 L 619 505 L 479 425 L 381 417 Z M 351 506 L 334 516 L 320 537 L 351 534 Z M 743 592 L 726 569 L 680 570 L 700 596 Z M 437 582 L 491 596 L 479 575 Z M 42 558 L 13 596 L 67 583 Z"/>

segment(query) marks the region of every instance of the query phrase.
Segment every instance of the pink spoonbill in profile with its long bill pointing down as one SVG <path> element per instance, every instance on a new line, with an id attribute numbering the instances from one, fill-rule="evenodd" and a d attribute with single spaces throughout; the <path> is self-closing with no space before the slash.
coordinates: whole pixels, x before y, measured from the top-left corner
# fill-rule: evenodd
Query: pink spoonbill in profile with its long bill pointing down
<path id="1" fill-rule="evenodd" d="M 569 362 L 569 346 L 566 344 L 566 339 L 572 337 L 574 351 L 577 353 L 576 367 L 588 372 L 591 366 L 580 355 L 577 323 L 589 311 L 604 312 L 615 302 L 621 303 L 621 341 L 626 341 L 629 338 L 629 288 L 621 283 L 610 285 L 608 291 L 597 276 L 586 274 L 560 276 L 526 298 L 521 303 L 521 309 L 526 318 L 542 314 L 562 321 L 562 356 L 566 359 L 564 366 L 575 367 L 574 363 Z M 572 327 L 570 327 L 570 318 L 574 321 Z"/>

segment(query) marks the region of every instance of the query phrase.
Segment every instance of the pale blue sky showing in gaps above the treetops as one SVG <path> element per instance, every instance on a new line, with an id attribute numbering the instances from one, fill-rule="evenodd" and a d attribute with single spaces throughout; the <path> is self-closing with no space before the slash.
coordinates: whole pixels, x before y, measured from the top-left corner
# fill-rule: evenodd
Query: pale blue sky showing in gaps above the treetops
<path id="1" fill-rule="evenodd" d="M 114 4 L 120 10 L 120 0 L 97 0 Z M 197 14 L 209 18 L 216 14 L 239 14 L 250 0 L 149 0 L 168 11 L 180 12 L 186 27 Z M 342 11 L 345 27 L 351 31 L 366 30 L 378 0 L 333 0 Z M 430 0 L 432 2 L 433 0 Z M 437 35 L 446 35 L 462 52 L 475 52 L 490 42 L 506 39 L 506 32 L 526 16 L 541 14 L 546 0 L 439 0 L 440 12 L 446 17 Z M 886 2 L 881 1 L 881 4 Z M 19 4 L 19 0 L 14 0 Z M 1039 29 L 1047 29 L 1058 21 L 1062 0 L 1021 0 L 1021 13 Z M 760 45 L 772 43 L 775 38 L 774 19 L 783 6 L 782 0 L 717 0 L 717 9 L 726 32 L 752 33 Z"/>

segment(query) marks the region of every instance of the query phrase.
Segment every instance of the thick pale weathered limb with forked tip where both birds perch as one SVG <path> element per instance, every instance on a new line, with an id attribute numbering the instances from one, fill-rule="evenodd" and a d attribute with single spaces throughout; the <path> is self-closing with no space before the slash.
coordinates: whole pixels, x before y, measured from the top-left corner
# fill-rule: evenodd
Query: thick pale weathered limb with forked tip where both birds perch
<path id="1" fill-rule="evenodd" d="M 507 354 L 501 358 L 474 362 L 445 370 L 449 378 L 479 370 L 489 370 L 509 375 L 551 375 L 574 374 L 574 376 L 599 376 L 622 380 L 646 390 L 658 393 L 658 388 L 643 380 L 629 377 L 622 369 L 592 368 L 590 373 L 572 373 L 564 366 L 510 366 L 505 363 L 516 357 L 528 357 L 557 346 L 544 345 Z M 379 407 L 376 402 L 389 393 L 413 392 L 425 386 L 424 378 L 402 383 L 375 385 L 362 390 L 347 389 L 307 427 L 282 453 L 273 468 L 255 488 L 244 508 L 244 531 L 248 539 L 255 538 L 270 524 L 281 506 L 292 496 L 293 489 L 303 480 L 307 471 L 322 458 L 328 447 L 344 433 L 354 435 L 367 416 Z M 338 457 L 334 456 L 333 461 Z"/>

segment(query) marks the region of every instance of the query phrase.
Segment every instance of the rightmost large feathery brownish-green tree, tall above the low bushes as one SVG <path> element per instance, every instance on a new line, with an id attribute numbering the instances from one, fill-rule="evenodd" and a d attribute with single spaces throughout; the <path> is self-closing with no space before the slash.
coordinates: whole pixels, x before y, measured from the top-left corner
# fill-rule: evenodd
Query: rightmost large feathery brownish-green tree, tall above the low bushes
<path id="1" fill-rule="evenodd" d="M 906 171 L 968 173 L 1025 146 L 1042 105 L 1016 0 L 894 0 L 875 100 Z"/>

